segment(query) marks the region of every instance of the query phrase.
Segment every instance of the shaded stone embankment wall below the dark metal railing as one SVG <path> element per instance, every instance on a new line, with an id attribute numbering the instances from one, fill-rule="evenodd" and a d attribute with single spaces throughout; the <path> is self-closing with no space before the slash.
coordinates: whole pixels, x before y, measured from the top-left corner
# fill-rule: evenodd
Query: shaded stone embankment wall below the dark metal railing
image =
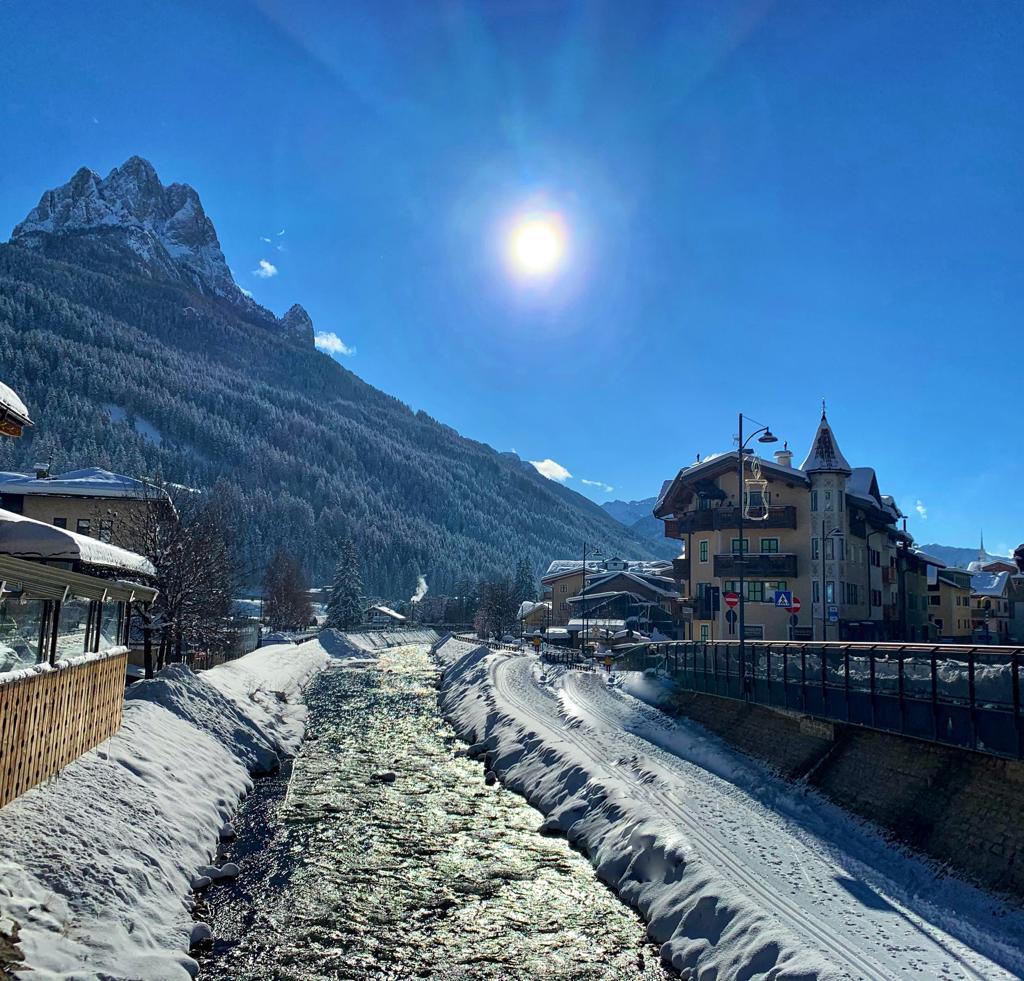
<path id="1" fill-rule="evenodd" d="M 957 875 L 1024 900 L 1024 763 L 714 695 L 680 714 Z"/>

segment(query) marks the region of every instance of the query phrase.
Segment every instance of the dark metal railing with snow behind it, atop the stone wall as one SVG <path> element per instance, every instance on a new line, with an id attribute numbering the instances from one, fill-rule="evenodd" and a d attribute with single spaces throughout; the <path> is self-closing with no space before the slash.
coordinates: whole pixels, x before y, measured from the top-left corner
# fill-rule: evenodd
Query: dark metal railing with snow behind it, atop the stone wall
<path id="1" fill-rule="evenodd" d="M 821 719 L 1024 759 L 1024 648 L 746 641 L 645 644 L 616 667 Z"/>

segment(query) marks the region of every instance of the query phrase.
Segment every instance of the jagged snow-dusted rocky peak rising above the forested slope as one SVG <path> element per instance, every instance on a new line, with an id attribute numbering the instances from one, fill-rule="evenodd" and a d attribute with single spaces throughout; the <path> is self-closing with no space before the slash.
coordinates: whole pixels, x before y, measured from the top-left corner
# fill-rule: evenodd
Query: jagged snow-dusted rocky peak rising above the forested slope
<path id="1" fill-rule="evenodd" d="M 11 241 L 47 251 L 53 240 L 73 238 L 104 252 L 115 249 L 135 271 L 255 306 L 236 286 L 196 190 L 187 184 L 165 186 L 141 157 L 129 157 L 106 177 L 80 168 L 68 183 L 42 196 Z"/>

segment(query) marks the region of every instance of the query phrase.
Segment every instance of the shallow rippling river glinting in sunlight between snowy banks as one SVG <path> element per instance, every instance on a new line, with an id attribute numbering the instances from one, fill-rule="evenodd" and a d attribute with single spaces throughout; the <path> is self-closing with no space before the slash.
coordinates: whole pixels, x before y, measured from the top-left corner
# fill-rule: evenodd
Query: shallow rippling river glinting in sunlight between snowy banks
<path id="1" fill-rule="evenodd" d="M 587 859 L 456 756 L 435 680 L 420 646 L 313 683 L 290 779 L 247 799 L 242 872 L 205 896 L 201 979 L 669 976 Z"/>

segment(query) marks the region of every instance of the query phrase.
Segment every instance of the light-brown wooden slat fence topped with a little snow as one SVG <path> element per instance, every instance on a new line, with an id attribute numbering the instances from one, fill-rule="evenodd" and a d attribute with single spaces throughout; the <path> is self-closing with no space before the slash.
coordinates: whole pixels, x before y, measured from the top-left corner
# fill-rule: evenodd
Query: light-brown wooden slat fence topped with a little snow
<path id="1" fill-rule="evenodd" d="M 0 677 L 0 807 L 118 731 L 127 657 L 115 647 Z"/>

